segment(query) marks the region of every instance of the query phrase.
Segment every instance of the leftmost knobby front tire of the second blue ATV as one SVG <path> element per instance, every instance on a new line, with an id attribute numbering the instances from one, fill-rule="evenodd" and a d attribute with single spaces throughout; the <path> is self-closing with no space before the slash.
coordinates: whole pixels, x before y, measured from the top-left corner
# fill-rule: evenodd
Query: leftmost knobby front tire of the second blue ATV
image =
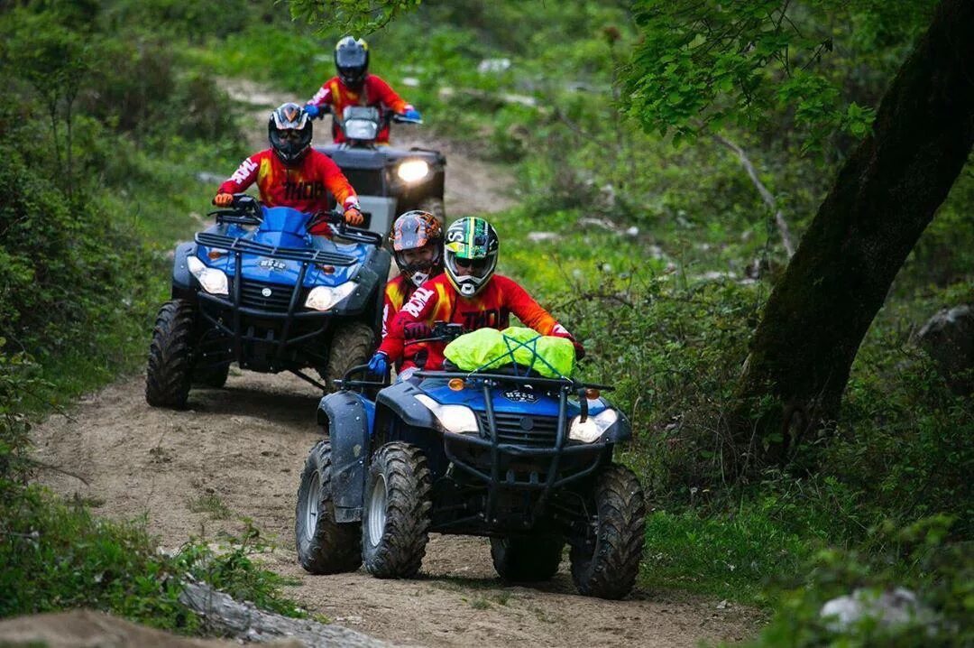
<path id="1" fill-rule="evenodd" d="M 173 299 L 156 316 L 145 372 L 145 400 L 153 407 L 183 409 L 193 373 L 193 304 Z"/>

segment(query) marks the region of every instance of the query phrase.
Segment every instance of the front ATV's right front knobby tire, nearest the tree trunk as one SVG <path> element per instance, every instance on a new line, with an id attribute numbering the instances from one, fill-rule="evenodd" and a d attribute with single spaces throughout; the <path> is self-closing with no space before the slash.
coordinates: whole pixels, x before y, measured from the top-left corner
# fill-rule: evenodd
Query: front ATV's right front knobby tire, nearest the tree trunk
<path id="1" fill-rule="evenodd" d="M 646 502 L 639 479 L 610 464 L 595 481 L 594 547 L 572 547 L 572 579 L 587 596 L 622 598 L 636 584 L 646 531 Z"/>

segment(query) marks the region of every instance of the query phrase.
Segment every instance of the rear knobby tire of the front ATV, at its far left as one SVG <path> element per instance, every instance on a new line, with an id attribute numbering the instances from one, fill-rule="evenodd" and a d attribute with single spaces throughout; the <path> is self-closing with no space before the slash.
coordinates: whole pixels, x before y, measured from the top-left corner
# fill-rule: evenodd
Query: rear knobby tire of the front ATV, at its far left
<path id="1" fill-rule="evenodd" d="M 335 521 L 331 494 L 331 443 L 318 441 L 308 454 L 294 510 L 298 561 L 312 574 L 338 574 L 362 563 L 358 522 Z"/>

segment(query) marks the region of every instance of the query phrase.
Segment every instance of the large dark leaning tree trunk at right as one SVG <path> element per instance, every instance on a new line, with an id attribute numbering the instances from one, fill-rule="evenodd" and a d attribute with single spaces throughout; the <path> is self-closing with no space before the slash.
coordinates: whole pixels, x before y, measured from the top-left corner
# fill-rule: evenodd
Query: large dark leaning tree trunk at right
<path id="1" fill-rule="evenodd" d="M 771 292 L 739 384 L 738 469 L 835 421 L 859 345 L 974 143 L 972 34 L 974 0 L 944 0 Z"/>

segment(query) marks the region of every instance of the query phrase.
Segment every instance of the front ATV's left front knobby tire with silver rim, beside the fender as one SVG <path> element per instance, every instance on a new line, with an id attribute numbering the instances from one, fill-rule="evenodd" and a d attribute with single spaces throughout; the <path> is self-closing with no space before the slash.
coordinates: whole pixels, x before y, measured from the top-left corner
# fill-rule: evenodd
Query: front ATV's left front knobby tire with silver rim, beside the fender
<path id="1" fill-rule="evenodd" d="M 393 441 L 369 465 L 362 509 L 362 558 L 378 578 L 415 576 L 430 539 L 431 477 L 423 451 Z"/>

